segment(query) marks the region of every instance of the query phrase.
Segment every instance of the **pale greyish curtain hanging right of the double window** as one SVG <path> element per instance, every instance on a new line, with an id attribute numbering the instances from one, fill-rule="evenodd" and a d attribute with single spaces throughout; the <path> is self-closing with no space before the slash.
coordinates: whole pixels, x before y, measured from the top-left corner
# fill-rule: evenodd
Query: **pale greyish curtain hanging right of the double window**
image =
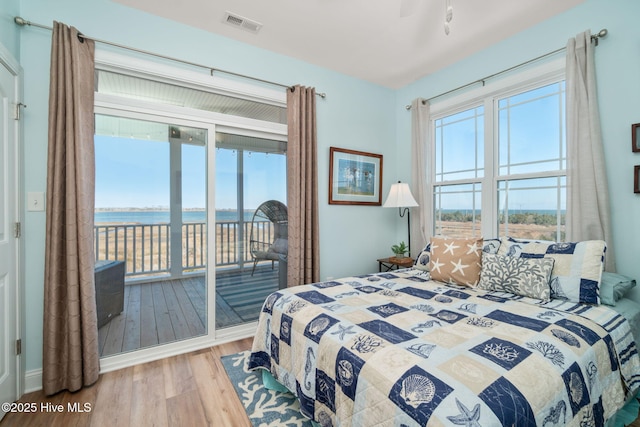
<path id="1" fill-rule="evenodd" d="M 585 31 L 567 42 L 567 241 L 607 242 L 615 271 L 609 189 L 600 130 L 594 46 Z"/>

